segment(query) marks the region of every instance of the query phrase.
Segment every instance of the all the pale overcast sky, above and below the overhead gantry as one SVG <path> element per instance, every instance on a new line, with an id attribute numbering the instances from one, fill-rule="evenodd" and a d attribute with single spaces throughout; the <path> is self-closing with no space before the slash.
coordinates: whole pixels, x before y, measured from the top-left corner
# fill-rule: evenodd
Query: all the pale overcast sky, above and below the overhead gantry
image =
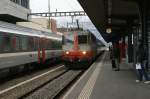
<path id="1" fill-rule="evenodd" d="M 30 0 L 30 9 L 32 13 L 48 12 L 48 0 Z M 77 0 L 50 0 L 50 11 L 55 12 L 65 12 L 65 11 L 83 11 Z M 66 26 L 67 22 L 71 23 L 71 17 L 60 17 L 54 18 L 57 20 L 58 26 Z M 84 28 L 90 29 L 97 36 L 99 40 L 103 40 L 100 33 L 97 31 L 95 26 L 92 24 L 88 17 L 75 17 L 74 21 L 78 19 Z"/>

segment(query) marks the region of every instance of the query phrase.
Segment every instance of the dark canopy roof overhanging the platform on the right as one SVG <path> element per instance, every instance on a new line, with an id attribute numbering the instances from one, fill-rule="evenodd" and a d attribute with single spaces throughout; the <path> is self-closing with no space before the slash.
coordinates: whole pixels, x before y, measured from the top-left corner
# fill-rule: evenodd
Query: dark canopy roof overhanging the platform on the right
<path id="1" fill-rule="evenodd" d="M 103 38 L 119 38 L 139 16 L 138 0 L 78 0 Z M 111 28 L 112 33 L 106 33 Z"/>

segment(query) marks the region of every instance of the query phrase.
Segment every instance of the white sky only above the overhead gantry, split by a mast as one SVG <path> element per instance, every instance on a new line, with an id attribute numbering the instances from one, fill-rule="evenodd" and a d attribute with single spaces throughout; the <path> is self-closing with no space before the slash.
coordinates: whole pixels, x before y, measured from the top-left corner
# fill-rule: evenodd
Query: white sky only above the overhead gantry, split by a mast
<path id="1" fill-rule="evenodd" d="M 50 0 L 51 11 L 83 11 L 76 0 Z M 32 12 L 47 12 L 48 0 L 30 0 Z"/>

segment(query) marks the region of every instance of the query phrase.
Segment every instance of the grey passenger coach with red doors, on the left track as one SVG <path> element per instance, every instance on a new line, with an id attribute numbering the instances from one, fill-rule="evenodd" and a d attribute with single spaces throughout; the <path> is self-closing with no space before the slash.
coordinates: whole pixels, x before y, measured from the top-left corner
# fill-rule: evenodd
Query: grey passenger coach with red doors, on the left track
<path id="1" fill-rule="evenodd" d="M 0 22 L 0 70 L 62 56 L 62 36 Z"/>

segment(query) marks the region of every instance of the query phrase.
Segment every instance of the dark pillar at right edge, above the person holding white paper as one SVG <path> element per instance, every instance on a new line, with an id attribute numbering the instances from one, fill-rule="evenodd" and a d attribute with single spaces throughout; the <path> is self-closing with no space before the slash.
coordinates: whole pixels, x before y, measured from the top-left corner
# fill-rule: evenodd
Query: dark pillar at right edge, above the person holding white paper
<path id="1" fill-rule="evenodd" d="M 148 28 L 148 0 L 141 0 L 139 2 L 139 9 L 140 9 L 140 21 L 141 21 L 141 29 L 142 29 L 142 45 L 143 45 L 143 52 L 142 59 L 147 61 L 146 66 L 150 66 L 150 30 Z M 147 67 L 146 67 L 147 68 Z"/>

